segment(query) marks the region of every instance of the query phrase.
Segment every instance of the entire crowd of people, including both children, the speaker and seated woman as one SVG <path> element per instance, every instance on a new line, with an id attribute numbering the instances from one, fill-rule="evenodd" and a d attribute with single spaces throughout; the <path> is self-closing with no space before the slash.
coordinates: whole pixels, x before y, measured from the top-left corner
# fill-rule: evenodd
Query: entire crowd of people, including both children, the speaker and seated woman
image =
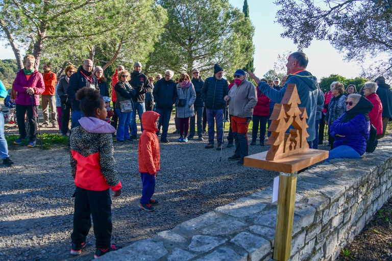
<path id="1" fill-rule="evenodd" d="M 99 224 L 97 229 L 94 228 L 95 257 L 119 248 L 110 244 L 109 189 L 114 191 L 114 196 L 121 194 L 121 182 L 114 169 L 113 138 L 118 143 L 132 143 L 139 139 L 142 180 L 139 207 L 154 211 L 154 205 L 159 203 L 152 198 L 155 178 L 160 170 L 159 141 L 170 142 L 167 137 L 173 107 L 178 142 L 186 143 L 196 139 L 196 135 L 199 141 L 203 141 L 208 123 L 205 148 L 214 148 L 216 140 L 216 150 L 222 151 L 224 122 L 229 121 L 227 147 L 234 143 L 235 150 L 228 160 L 236 161 L 238 165 L 243 165 L 244 157 L 248 155 L 251 121 L 250 145 L 256 145 L 258 139 L 259 144 L 265 146 L 265 139 L 271 135 L 266 129 L 271 125 L 274 105 L 281 102 L 288 84 L 296 84 L 301 100 L 299 107 L 306 108 L 310 148 L 323 143 L 324 129 L 327 128 L 331 146 L 327 161 L 359 158 L 366 151 L 371 128 L 374 126 L 377 139 L 380 139 L 392 119 L 392 90 L 384 77 L 365 83 L 359 94 L 355 85 L 350 84 L 345 89 L 340 82 L 333 82 L 330 91 L 324 94 L 316 77 L 306 70 L 308 58 L 303 52 L 290 54 L 286 64 L 287 76 L 283 79 L 259 79 L 251 71 L 237 69 L 234 81 L 230 83 L 223 78 L 224 69 L 215 64 L 213 75 L 205 80 L 200 70 L 194 68 L 192 75 L 181 73 L 175 81 L 174 72 L 166 70 L 163 77 L 157 74 L 154 81 L 154 77 L 142 73 L 142 64 L 135 62 L 132 71 L 122 65 L 116 68 L 111 88 L 103 68 L 93 67 L 89 59 L 79 68 L 69 65 L 59 78 L 51 71 L 50 63 L 43 65 L 43 73 L 38 72 L 32 55 L 24 57 L 23 63 L 24 68 L 17 73 L 12 91 L 7 92 L 0 82 L 0 96 L 6 98 L 5 104 L 10 110 L 16 110 L 19 138 L 14 144 L 22 144 L 28 138 L 28 147 L 36 145 L 40 95 L 41 126 L 59 128 L 64 136 L 70 133 L 72 176 L 76 185 L 74 231 L 71 234 L 71 254 L 74 255 L 80 254 L 86 245 L 90 215 L 94 224 Z M 136 113 L 140 120 L 139 137 Z M 29 133 L 24 126 L 26 115 Z M 12 166 L 4 137 L 4 120 L 0 120 L 0 153 L 4 165 Z"/>

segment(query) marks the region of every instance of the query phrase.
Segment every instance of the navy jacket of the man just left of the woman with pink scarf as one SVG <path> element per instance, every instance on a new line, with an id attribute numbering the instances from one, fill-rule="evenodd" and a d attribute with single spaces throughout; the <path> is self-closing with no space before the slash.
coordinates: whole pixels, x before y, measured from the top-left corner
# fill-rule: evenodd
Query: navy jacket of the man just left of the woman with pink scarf
<path id="1" fill-rule="evenodd" d="M 156 108 L 161 110 L 173 110 L 173 105 L 177 100 L 177 85 L 173 80 L 159 80 L 153 90 Z"/>

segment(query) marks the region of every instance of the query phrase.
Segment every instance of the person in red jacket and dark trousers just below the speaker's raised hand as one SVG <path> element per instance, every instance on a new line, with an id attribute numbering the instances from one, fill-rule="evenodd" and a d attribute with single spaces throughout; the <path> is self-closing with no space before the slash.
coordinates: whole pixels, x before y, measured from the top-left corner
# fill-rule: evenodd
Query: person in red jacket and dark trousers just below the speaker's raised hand
<path id="1" fill-rule="evenodd" d="M 257 88 L 257 104 L 253 108 L 253 127 L 251 145 L 256 145 L 257 132 L 260 124 L 260 146 L 264 146 L 265 127 L 269 115 L 269 98 Z"/>

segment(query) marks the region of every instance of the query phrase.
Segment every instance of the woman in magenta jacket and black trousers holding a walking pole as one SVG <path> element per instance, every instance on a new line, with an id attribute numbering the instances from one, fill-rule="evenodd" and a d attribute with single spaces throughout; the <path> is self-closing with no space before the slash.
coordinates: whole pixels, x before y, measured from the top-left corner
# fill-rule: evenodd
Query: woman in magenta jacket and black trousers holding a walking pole
<path id="1" fill-rule="evenodd" d="M 26 55 L 23 58 L 24 69 L 21 69 L 16 74 L 16 79 L 12 88 L 16 91 L 16 119 L 18 121 L 19 139 L 14 141 L 14 144 L 21 144 L 26 139 L 26 126 L 24 125 L 24 115 L 27 111 L 27 116 L 30 124 L 29 144 L 32 148 L 37 140 L 37 127 L 34 119 L 33 106 L 39 105 L 39 94 L 45 90 L 45 84 L 40 72 L 34 69 L 35 57 Z"/>

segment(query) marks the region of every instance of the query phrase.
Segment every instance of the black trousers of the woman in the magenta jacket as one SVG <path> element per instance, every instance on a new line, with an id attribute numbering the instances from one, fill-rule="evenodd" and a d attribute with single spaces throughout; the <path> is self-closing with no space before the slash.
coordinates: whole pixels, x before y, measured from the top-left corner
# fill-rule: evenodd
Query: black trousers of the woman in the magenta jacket
<path id="1" fill-rule="evenodd" d="M 36 108 L 34 108 L 34 111 L 35 110 Z M 16 120 L 18 122 L 19 135 L 20 138 L 22 139 L 27 137 L 26 124 L 24 124 L 24 115 L 26 115 L 26 112 L 30 125 L 29 138 L 30 140 L 37 139 L 37 126 L 36 126 L 36 121 L 34 119 L 34 114 L 37 113 L 37 111 L 35 112 L 34 111 L 33 111 L 33 106 L 31 105 L 19 105 L 19 104 L 16 105 Z"/>

